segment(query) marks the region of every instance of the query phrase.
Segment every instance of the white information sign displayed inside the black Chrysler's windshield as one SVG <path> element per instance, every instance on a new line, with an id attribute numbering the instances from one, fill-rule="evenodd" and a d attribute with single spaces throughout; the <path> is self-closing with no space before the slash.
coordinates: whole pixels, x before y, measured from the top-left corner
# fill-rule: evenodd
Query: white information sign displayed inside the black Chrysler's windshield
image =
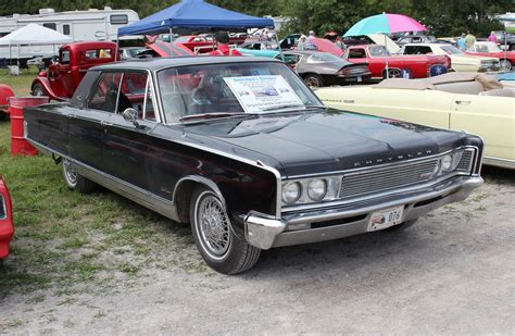
<path id="1" fill-rule="evenodd" d="M 248 113 L 305 109 L 282 76 L 225 77 L 224 80 Z"/>

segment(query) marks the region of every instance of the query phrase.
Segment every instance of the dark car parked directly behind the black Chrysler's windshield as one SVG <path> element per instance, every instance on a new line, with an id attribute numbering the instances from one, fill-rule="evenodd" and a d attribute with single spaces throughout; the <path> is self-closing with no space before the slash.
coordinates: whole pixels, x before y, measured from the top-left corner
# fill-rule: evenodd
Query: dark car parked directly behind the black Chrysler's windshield
<path id="1" fill-rule="evenodd" d="M 370 78 L 366 63 L 354 64 L 327 52 L 284 51 L 276 59 L 290 65 L 311 88 L 363 83 Z"/>

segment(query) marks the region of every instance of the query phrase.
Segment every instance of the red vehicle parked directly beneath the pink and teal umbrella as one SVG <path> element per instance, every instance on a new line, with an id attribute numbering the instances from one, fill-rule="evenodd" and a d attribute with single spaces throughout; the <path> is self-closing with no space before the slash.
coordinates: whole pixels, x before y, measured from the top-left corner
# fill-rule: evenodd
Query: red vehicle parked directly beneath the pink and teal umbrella
<path id="1" fill-rule="evenodd" d="M 451 59 L 447 55 L 397 55 L 379 45 L 351 46 L 343 58 L 352 63 L 367 63 L 372 77 L 381 79 L 387 77 L 387 63 L 390 78 L 402 77 L 403 72 L 411 78 L 425 78 L 430 76 L 434 65 L 443 65 L 443 72 L 451 69 Z"/>

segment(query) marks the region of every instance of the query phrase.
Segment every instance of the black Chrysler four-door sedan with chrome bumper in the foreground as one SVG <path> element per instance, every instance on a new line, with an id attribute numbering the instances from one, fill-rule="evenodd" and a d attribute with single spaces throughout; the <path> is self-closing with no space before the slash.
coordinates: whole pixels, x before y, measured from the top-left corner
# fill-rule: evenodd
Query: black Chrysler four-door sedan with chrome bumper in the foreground
<path id="1" fill-rule="evenodd" d="M 70 102 L 25 122 L 71 189 L 102 185 L 191 223 L 226 274 L 261 250 L 407 227 L 482 183 L 477 136 L 330 110 L 274 59 L 92 67 Z"/>

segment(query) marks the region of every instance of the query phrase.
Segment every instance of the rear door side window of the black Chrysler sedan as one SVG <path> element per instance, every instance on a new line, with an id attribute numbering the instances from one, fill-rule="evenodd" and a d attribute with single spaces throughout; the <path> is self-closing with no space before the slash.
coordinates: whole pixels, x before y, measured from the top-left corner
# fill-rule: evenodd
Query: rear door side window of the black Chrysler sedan
<path id="1" fill-rule="evenodd" d="M 106 72 L 100 75 L 91 96 L 88 99 L 90 109 L 115 113 L 118 101 L 122 73 Z"/>

